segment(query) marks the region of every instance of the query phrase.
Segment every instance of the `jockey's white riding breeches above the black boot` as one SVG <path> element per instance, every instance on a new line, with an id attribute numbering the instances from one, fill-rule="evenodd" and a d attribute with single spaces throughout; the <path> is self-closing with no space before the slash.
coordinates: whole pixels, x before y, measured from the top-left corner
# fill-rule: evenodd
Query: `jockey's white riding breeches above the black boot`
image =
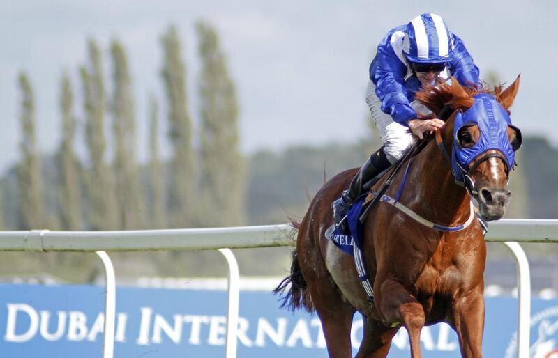
<path id="1" fill-rule="evenodd" d="M 415 139 L 409 127 L 395 122 L 389 114 L 382 111 L 382 101 L 376 95 L 376 86 L 370 81 L 366 91 L 366 103 L 370 108 L 372 120 L 379 132 L 379 138 L 384 143 L 384 153 L 389 162 L 397 162 L 405 150 L 413 145 Z M 418 101 L 411 102 L 411 107 L 420 114 L 430 114 L 430 110 Z"/>

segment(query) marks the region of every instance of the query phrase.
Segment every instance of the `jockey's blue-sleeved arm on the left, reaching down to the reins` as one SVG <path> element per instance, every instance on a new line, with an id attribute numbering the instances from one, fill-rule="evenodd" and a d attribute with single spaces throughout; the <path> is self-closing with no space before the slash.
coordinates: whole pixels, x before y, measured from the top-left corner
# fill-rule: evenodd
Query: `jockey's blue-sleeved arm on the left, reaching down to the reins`
<path id="1" fill-rule="evenodd" d="M 407 66 L 398 59 L 391 45 L 379 45 L 375 61 L 370 65 L 370 79 L 376 85 L 382 111 L 402 125 L 417 117 L 407 99 L 406 73 Z"/>

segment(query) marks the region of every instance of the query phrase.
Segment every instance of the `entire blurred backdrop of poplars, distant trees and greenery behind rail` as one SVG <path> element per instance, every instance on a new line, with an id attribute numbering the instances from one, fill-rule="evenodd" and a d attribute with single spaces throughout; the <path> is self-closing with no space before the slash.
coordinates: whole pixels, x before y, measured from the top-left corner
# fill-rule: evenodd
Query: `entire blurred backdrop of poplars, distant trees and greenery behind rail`
<path id="1" fill-rule="evenodd" d="M 20 73 L 20 162 L 0 178 L 3 230 L 124 230 L 282 224 L 301 219 L 319 187 L 335 173 L 360 166 L 379 147 L 370 131 L 352 143 L 291 146 L 281 152 L 261 150 L 246 156 L 239 150 L 239 104 L 227 56 L 216 29 L 196 24 L 201 70 L 193 79 L 200 105 L 189 107 L 187 64 L 176 26 L 160 38 L 160 80 L 165 96 L 149 94 L 145 116 L 149 140 L 136 138 L 137 110 L 126 46 L 114 39 L 101 49 L 86 41 L 88 61 L 67 69 L 59 88 L 61 143 L 54 155 L 37 146 L 32 79 Z M 107 55 L 107 56 L 105 56 Z M 110 59 L 109 66 L 105 57 Z M 133 61 L 133 59 L 131 59 Z M 107 68 L 110 69 L 107 70 Z M 75 74 L 75 77 L 71 74 Z M 109 80 L 107 82 L 107 80 Z M 497 72 L 485 81 L 499 84 Z M 80 86 L 73 88 L 72 83 Z M 110 88 L 110 91 L 109 91 Z M 75 98 L 82 101 L 78 103 Z M 78 110 L 81 109 L 81 110 Z M 81 114 L 81 115 L 78 115 Z M 197 127 L 192 118 L 198 118 Z M 171 148 L 160 155 L 162 121 Z M 340 120 L 340 130 L 347 125 Z M 75 152 L 82 130 L 86 155 Z M 311 135 L 311 134 L 309 134 Z M 137 146 L 149 146 L 149 162 L 137 162 Z M 112 155 L 109 155 L 112 153 Z M 525 137 L 513 173 L 508 218 L 558 218 L 558 149 L 543 137 Z M 548 245 L 527 245 L 541 260 L 552 256 Z M 489 245 L 490 257 L 504 255 Z M 290 248 L 236 250 L 241 274 L 285 274 Z M 216 252 L 118 253 L 116 272 L 133 277 L 223 276 Z M 216 264 L 213 264 L 216 263 Z M 66 281 L 91 282 L 100 267 L 92 254 L 0 253 L 3 275 L 48 272 Z"/>

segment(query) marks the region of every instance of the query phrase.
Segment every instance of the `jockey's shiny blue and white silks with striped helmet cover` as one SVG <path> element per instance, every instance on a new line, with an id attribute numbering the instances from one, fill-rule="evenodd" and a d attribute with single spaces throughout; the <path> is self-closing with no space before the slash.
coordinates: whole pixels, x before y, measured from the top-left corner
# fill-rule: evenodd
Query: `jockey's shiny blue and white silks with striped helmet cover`
<path id="1" fill-rule="evenodd" d="M 410 39 L 410 41 L 409 41 Z M 391 29 L 382 39 L 377 54 L 370 64 L 370 80 L 376 86 L 376 95 L 382 101 L 382 111 L 395 122 L 407 125 L 416 118 L 410 102 L 415 98 L 421 82 L 407 62 L 432 59 L 433 63 L 446 62 L 440 77 L 455 77 L 463 86 L 478 86 L 478 67 L 467 52 L 462 40 L 448 31 L 435 14 L 423 14 L 412 22 Z"/>

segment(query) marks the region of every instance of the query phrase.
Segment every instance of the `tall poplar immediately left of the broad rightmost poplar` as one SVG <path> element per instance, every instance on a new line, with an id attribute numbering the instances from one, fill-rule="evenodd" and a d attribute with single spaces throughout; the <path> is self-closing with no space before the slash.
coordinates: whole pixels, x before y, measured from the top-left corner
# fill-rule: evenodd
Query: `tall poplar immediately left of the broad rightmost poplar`
<path id="1" fill-rule="evenodd" d="M 161 75 L 167 93 L 169 140 L 172 146 L 169 176 L 170 225 L 192 226 L 196 219 L 195 163 L 192 124 L 188 114 L 186 71 L 181 54 L 179 32 L 171 26 L 161 39 L 164 64 Z"/>

